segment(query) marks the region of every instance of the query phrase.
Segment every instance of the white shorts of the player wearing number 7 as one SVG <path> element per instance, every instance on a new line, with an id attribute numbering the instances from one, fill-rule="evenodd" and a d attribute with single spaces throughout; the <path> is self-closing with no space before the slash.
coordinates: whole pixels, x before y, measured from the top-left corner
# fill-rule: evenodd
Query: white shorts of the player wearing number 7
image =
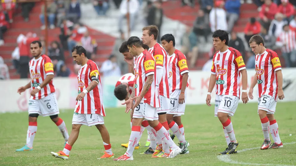
<path id="1" fill-rule="evenodd" d="M 104 118 L 100 114 L 81 114 L 74 112 L 72 124 L 82 124 L 87 126 L 104 124 Z"/>

